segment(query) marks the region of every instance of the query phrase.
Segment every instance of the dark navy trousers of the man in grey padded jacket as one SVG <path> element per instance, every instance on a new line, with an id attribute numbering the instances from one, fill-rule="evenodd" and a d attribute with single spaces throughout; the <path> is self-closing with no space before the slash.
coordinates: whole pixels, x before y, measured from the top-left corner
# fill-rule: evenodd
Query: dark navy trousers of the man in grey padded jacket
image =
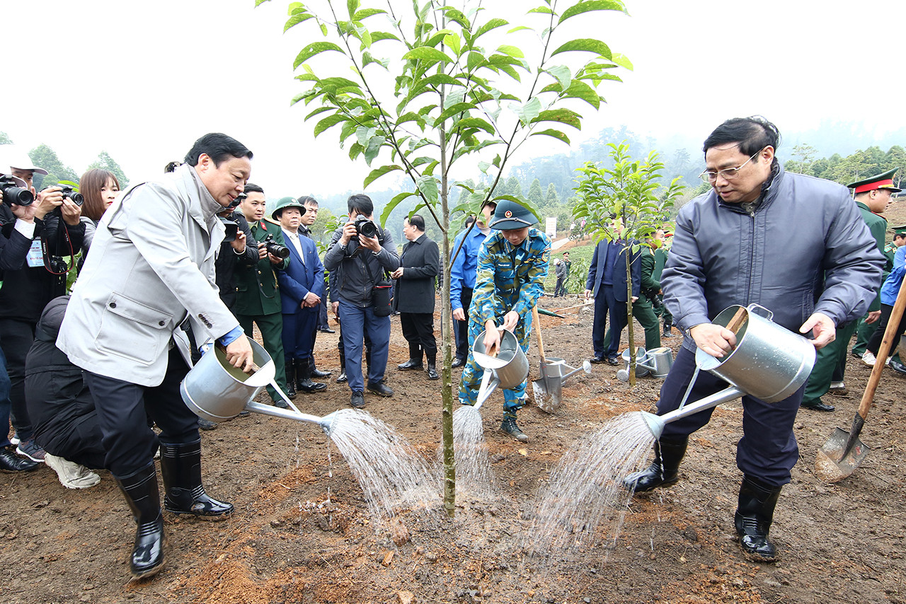
<path id="1" fill-rule="evenodd" d="M 695 371 L 695 354 L 685 348 L 679 349 L 670 374 L 660 388 L 658 415 L 662 416 L 679 408 L 686 388 Z M 699 373 L 695 386 L 689 393 L 686 404 L 708 397 L 724 388 L 728 383 L 711 375 L 708 371 Z M 774 486 L 790 482 L 790 470 L 799 458 L 799 446 L 793 434 L 795 414 L 802 402 L 803 388 L 778 403 L 745 396 L 742 398 L 742 438 L 737 443 L 737 467 L 747 476 Z M 664 427 L 662 436 L 689 436 L 708 424 L 714 407 L 699 411 L 689 417 L 670 422 Z"/>

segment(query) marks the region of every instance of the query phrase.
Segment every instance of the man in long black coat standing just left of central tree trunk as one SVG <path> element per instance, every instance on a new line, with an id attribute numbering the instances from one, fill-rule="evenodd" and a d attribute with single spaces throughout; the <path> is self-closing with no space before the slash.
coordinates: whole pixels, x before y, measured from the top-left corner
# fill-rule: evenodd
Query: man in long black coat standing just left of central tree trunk
<path id="1" fill-rule="evenodd" d="M 402 335 L 409 342 L 409 360 L 399 369 L 422 369 L 428 359 L 428 379 L 439 379 L 438 342 L 434 339 L 434 280 L 440 272 L 438 244 L 425 235 L 425 219 L 418 214 L 403 220 L 400 268 L 390 273 L 397 280 L 393 308 L 400 312 Z"/>

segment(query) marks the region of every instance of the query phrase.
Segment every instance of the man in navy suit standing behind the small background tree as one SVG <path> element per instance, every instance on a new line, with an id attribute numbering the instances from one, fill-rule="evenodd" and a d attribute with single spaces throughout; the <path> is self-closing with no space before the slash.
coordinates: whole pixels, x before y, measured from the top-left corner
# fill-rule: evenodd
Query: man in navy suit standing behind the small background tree
<path id="1" fill-rule="evenodd" d="M 622 225 L 614 223 L 614 230 L 619 237 Z M 585 299 L 594 298 L 594 322 L 592 342 L 594 347 L 593 363 L 606 362 L 618 365 L 617 351 L 620 348 L 620 334 L 626 327 L 626 255 L 631 242 L 620 238 L 613 241 L 602 240 L 594 248 L 592 265 L 588 267 L 588 279 L 585 282 Z M 641 261 L 639 253 L 631 254 L 632 302 L 639 299 L 641 285 Z M 604 334 L 607 327 L 607 315 L 611 317 L 612 338 L 604 347 Z"/>

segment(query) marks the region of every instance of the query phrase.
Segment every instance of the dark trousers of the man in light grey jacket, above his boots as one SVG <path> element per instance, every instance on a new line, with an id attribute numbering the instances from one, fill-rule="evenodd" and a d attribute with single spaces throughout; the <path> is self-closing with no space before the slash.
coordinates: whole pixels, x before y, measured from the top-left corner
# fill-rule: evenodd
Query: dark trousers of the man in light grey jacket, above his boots
<path id="1" fill-rule="evenodd" d="M 107 455 L 104 465 L 115 478 L 126 478 L 154 463 L 160 443 L 182 445 L 198 440 L 198 417 L 182 402 L 179 382 L 188 365 L 176 347 L 169 351 L 167 374 L 159 386 L 146 387 L 85 372 L 101 426 Z M 148 426 L 160 428 L 160 437 Z"/>

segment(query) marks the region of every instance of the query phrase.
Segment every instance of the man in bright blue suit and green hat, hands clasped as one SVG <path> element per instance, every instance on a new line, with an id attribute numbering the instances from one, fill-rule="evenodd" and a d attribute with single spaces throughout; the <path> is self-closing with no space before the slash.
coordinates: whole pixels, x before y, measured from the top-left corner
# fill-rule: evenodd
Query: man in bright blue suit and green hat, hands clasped
<path id="1" fill-rule="evenodd" d="M 300 233 L 305 212 L 305 206 L 293 197 L 284 197 L 271 216 L 280 221 L 289 248 L 289 268 L 277 273 L 283 306 L 286 383 L 311 394 L 327 388 L 327 384 L 312 381 L 314 338 L 324 296 L 324 266 L 314 242 Z"/>

